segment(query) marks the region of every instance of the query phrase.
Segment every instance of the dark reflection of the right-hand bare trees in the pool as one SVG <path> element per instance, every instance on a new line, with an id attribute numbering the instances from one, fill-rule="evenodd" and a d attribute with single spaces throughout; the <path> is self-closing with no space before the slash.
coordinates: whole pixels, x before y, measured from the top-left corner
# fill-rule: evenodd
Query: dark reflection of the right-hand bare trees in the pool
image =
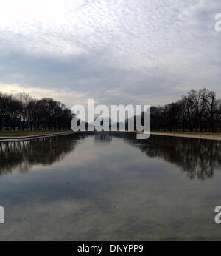
<path id="1" fill-rule="evenodd" d="M 152 135 L 150 139 L 135 140 L 125 135 L 127 141 L 141 149 L 150 158 L 162 158 L 179 166 L 187 177 L 205 180 L 221 169 L 221 142 L 192 138 L 173 138 Z"/>

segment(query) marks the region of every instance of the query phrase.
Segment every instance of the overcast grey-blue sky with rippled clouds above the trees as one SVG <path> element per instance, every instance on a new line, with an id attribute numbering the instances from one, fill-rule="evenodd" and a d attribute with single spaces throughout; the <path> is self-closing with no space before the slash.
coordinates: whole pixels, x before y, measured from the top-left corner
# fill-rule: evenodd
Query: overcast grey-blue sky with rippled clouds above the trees
<path id="1" fill-rule="evenodd" d="M 217 0 L 0 0 L 0 90 L 68 107 L 221 98 Z"/>

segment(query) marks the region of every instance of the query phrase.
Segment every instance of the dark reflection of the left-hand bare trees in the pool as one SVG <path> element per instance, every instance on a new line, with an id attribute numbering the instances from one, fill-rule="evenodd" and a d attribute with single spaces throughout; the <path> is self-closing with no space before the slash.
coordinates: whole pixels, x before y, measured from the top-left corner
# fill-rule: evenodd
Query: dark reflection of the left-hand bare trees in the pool
<path id="1" fill-rule="evenodd" d="M 0 143 L 0 175 L 7 172 L 26 172 L 36 164 L 51 165 L 61 161 L 77 144 L 78 136 L 41 138 L 32 141 Z"/>

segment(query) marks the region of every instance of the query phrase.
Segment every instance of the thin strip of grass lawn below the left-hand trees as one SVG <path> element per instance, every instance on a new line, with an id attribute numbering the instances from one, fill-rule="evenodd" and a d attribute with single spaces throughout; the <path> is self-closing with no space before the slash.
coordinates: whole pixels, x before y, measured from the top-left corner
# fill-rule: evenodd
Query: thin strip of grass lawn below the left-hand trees
<path id="1" fill-rule="evenodd" d="M 19 137 L 19 136 L 32 136 L 32 135 L 44 135 L 44 134 L 52 134 L 52 133 L 59 133 L 59 132 L 72 132 L 71 130 L 60 130 L 60 131 L 0 131 L 0 137 Z"/>

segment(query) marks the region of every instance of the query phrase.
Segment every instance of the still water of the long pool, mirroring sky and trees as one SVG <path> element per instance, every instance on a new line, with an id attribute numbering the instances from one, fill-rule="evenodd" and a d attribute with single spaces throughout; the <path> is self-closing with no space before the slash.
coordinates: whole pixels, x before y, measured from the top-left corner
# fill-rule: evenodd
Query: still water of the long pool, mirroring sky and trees
<path id="1" fill-rule="evenodd" d="M 0 143 L 0 240 L 221 240 L 221 143 L 69 135 Z"/>

